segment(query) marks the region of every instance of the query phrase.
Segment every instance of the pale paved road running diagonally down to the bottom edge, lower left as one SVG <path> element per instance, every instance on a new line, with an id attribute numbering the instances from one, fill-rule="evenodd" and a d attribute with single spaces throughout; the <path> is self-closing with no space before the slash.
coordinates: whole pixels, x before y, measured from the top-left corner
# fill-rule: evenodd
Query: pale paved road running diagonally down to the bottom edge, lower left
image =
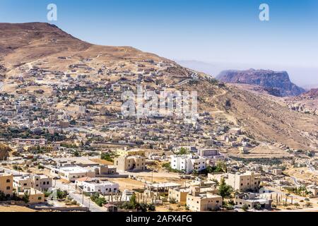
<path id="1" fill-rule="evenodd" d="M 71 196 L 71 198 L 76 200 L 78 203 L 82 203 L 83 206 L 88 207 L 91 212 L 106 212 L 106 209 L 104 207 L 100 207 L 93 201 L 90 201 L 90 198 L 83 196 L 82 194 L 78 194 L 78 191 L 76 191 L 74 184 L 63 184 L 60 181 L 54 181 L 54 184 L 55 188 L 57 189 L 69 191 L 69 196 Z"/>

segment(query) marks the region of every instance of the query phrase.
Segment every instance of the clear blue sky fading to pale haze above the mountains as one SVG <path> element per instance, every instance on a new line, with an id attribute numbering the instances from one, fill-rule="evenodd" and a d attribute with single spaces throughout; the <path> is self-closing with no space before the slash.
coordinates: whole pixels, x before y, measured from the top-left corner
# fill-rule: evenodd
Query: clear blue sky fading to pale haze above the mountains
<path id="1" fill-rule="evenodd" d="M 47 4 L 58 20 L 47 21 Z M 270 21 L 259 20 L 269 4 Z M 55 23 L 71 35 L 129 45 L 178 60 L 312 71 L 292 75 L 318 84 L 317 0 L 1 0 L 0 22 Z"/>

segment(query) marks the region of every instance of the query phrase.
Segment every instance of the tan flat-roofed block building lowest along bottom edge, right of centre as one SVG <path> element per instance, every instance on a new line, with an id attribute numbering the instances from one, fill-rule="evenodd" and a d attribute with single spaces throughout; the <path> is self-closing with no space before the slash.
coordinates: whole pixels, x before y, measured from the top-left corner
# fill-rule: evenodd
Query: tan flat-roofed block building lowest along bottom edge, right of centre
<path id="1" fill-rule="evenodd" d="M 210 193 L 199 194 L 199 196 L 187 195 L 187 206 L 196 212 L 218 210 L 222 206 L 222 201 L 221 196 Z"/>

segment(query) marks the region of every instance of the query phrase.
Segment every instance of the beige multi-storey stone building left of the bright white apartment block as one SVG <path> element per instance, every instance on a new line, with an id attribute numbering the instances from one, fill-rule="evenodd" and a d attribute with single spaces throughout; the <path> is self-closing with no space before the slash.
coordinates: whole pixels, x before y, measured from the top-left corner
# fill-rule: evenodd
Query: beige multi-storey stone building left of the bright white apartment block
<path id="1" fill-rule="evenodd" d="M 146 169 L 146 157 L 140 155 L 120 156 L 114 159 L 117 171 L 142 171 Z"/>

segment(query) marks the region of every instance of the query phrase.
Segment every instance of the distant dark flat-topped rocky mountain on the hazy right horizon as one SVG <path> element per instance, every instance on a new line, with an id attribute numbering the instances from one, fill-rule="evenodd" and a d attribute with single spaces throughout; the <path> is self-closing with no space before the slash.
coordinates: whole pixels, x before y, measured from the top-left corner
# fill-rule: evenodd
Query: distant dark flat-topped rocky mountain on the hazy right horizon
<path id="1" fill-rule="evenodd" d="M 269 94 L 275 96 L 296 96 L 305 93 L 305 90 L 290 81 L 286 71 L 254 70 L 222 71 L 218 80 L 225 83 L 242 83 L 260 85 Z"/>

